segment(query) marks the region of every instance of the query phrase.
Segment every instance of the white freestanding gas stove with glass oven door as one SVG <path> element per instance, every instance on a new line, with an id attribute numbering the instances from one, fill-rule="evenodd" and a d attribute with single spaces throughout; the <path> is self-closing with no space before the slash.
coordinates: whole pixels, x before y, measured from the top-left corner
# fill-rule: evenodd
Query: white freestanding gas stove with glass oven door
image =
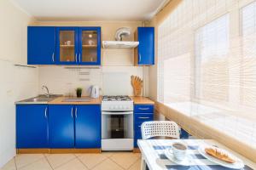
<path id="1" fill-rule="evenodd" d="M 103 96 L 102 150 L 133 150 L 133 101 L 129 96 Z"/>

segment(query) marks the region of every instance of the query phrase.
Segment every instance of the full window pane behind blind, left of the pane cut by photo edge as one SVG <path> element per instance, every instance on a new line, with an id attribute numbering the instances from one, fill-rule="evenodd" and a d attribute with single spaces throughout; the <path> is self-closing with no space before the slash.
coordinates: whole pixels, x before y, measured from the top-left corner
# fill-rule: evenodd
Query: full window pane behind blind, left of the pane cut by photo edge
<path id="1" fill-rule="evenodd" d="M 196 99 L 229 99 L 229 20 L 229 14 L 224 14 L 195 31 Z"/>

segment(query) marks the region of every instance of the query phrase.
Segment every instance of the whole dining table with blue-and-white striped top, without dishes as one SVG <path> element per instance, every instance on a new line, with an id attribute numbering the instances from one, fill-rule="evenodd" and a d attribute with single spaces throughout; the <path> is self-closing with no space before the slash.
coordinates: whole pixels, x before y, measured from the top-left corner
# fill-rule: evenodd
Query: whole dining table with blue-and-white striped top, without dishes
<path id="1" fill-rule="evenodd" d="M 187 154 L 191 159 L 189 165 L 178 165 L 166 157 L 165 150 L 171 149 L 174 142 L 182 142 L 187 145 Z M 198 150 L 201 144 L 212 145 L 227 150 L 233 156 L 240 159 L 244 167 L 241 170 L 256 169 L 256 164 L 241 156 L 234 150 L 230 150 L 224 144 L 218 143 L 213 139 L 147 139 L 138 140 L 138 147 L 142 153 L 141 169 L 148 167 L 149 170 L 231 170 L 230 167 L 223 167 L 205 156 L 202 156 Z"/>

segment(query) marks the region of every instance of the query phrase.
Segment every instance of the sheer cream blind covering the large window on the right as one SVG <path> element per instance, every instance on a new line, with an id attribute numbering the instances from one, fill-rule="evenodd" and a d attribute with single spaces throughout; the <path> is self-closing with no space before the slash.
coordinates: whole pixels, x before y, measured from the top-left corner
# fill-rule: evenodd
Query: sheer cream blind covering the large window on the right
<path id="1" fill-rule="evenodd" d="M 178 4 L 158 26 L 158 101 L 256 148 L 255 1 Z"/>

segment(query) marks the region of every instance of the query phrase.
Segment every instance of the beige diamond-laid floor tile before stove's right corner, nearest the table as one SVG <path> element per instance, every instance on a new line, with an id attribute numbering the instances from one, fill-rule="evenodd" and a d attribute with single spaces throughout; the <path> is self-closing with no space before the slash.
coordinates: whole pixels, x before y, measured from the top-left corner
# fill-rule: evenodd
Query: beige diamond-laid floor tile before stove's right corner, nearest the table
<path id="1" fill-rule="evenodd" d="M 135 163 L 140 158 L 139 154 L 134 153 L 119 153 L 119 154 L 113 154 L 113 156 L 110 157 L 110 159 L 119 166 L 124 167 L 125 169 L 131 167 L 133 163 Z"/>

